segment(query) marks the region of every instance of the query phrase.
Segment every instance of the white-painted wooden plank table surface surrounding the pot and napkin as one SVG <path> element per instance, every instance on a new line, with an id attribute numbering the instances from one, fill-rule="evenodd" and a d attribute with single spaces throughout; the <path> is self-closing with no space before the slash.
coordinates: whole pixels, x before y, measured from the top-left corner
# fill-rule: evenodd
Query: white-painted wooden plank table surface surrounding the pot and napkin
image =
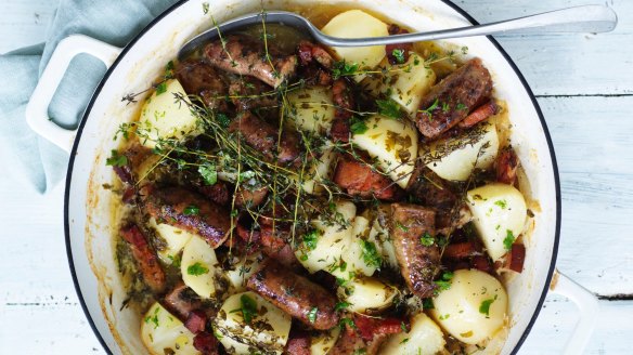
<path id="1" fill-rule="evenodd" d="M 591 2 L 456 1 L 480 22 Z M 558 268 L 600 298 L 586 353 L 632 354 L 633 1 L 608 3 L 620 17 L 612 34 L 498 39 L 554 140 L 563 185 Z M 42 41 L 55 6 L 0 0 L 0 53 Z M 0 173 L 0 354 L 103 353 L 70 279 L 62 197 L 61 185 L 39 196 Z M 548 297 L 520 353 L 558 354 L 577 317 L 572 303 Z"/>

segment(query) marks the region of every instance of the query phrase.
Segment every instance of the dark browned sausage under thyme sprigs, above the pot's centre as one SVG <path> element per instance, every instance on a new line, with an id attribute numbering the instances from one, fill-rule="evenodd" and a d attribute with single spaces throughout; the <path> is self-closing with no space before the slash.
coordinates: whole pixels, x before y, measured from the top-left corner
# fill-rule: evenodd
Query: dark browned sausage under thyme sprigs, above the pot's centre
<path id="1" fill-rule="evenodd" d="M 256 150 L 260 152 L 269 161 L 275 160 L 277 149 L 279 129 L 245 111 L 240 114 L 229 126 L 230 132 L 240 132 L 244 141 Z M 283 132 L 279 144 L 276 160 L 280 163 L 296 161 L 299 157 L 299 137 L 294 132 Z"/>

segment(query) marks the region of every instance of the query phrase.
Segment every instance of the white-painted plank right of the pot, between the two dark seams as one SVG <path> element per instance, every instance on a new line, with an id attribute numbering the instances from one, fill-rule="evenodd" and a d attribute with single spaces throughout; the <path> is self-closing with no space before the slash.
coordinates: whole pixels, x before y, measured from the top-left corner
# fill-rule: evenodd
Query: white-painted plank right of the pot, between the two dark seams
<path id="1" fill-rule="evenodd" d="M 560 170 L 558 267 L 599 294 L 633 293 L 632 96 L 539 98 Z"/>

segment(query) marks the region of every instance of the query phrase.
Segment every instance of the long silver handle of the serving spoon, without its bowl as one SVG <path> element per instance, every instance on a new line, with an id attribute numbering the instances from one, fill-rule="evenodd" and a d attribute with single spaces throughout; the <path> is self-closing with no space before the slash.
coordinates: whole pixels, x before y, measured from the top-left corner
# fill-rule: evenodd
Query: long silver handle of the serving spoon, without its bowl
<path id="1" fill-rule="evenodd" d="M 618 16 L 612 9 L 603 5 L 583 5 L 486 25 L 458 27 L 428 32 L 371 38 L 338 38 L 326 36 L 321 32 L 314 34 L 314 36 L 318 37 L 318 40 L 322 43 L 332 47 L 363 47 L 506 34 L 525 29 L 529 29 L 530 34 L 533 34 L 534 29 L 537 29 L 537 31 L 547 32 L 597 34 L 611 31 L 616 28 L 617 24 Z"/>

